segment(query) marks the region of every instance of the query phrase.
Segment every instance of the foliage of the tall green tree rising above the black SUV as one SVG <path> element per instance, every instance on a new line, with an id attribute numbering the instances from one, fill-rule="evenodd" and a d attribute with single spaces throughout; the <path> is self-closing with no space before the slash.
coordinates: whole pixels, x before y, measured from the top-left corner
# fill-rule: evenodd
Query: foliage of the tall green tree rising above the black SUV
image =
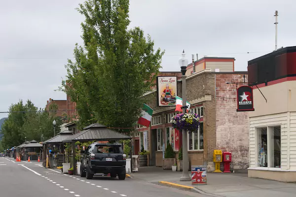
<path id="1" fill-rule="evenodd" d="M 154 51 L 151 37 L 139 27 L 128 30 L 129 0 L 86 0 L 77 10 L 85 16 L 84 46 L 76 44 L 75 61 L 66 66 L 68 83 L 60 90 L 76 102 L 80 129 L 95 122 L 131 128 L 164 52 Z"/>

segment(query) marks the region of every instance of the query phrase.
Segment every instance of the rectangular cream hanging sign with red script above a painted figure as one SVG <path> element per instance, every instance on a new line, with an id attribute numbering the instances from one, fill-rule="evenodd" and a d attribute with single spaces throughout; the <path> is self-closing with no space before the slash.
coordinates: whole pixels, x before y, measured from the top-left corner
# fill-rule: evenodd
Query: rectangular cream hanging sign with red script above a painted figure
<path id="1" fill-rule="evenodd" d="M 176 106 L 177 76 L 157 76 L 157 105 Z"/>

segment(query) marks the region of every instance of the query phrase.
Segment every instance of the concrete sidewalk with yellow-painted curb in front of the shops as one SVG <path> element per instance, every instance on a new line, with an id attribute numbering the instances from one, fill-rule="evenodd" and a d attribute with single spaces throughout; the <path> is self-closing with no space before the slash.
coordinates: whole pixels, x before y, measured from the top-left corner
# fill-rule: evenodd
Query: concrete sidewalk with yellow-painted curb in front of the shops
<path id="1" fill-rule="evenodd" d="M 191 182 L 179 181 L 182 172 L 164 170 L 161 167 L 140 167 L 139 172 L 130 173 L 132 178 L 196 191 L 222 197 L 295 197 L 296 184 L 272 180 L 248 178 L 247 171 L 240 173 L 207 173 L 207 185 L 192 186 Z M 191 172 L 190 177 L 191 177 Z"/>

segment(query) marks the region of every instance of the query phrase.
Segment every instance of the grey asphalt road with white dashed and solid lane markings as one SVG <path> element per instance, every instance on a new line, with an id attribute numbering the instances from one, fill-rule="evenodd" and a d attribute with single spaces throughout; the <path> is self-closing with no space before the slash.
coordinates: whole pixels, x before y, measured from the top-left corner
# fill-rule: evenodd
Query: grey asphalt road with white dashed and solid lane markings
<path id="1" fill-rule="evenodd" d="M 62 174 L 41 163 L 0 158 L 0 197 L 206 197 L 136 179 Z"/>

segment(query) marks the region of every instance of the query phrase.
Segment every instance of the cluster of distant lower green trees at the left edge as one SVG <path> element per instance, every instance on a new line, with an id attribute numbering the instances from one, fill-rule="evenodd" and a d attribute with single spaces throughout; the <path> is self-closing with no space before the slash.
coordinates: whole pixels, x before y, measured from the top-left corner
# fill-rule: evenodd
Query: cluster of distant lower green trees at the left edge
<path id="1" fill-rule="evenodd" d="M 53 104 L 50 110 L 54 109 L 57 109 L 57 106 Z M 4 148 L 18 146 L 26 140 L 44 141 L 49 139 L 53 136 L 53 120 L 55 119 L 57 122 L 56 133 L 59 132 L 62 124 L 62 120 L 56 117 L 55 112 L 44 112 L 43 109 L 38 109 L 30 100 L 26 104 L 22 100 L 12 104 L 9 107 L 9 112 L 8 118 L 1 127 L 3 134 L 1 145 Z"/>

